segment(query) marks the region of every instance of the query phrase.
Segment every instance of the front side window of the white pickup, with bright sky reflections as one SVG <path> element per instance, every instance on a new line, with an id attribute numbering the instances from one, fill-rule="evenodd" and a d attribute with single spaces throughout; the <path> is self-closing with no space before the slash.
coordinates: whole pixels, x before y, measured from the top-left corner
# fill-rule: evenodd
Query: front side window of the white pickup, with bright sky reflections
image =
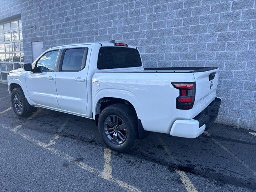
<path id="1" fill-rule="evenodd" d="M 36 63 L 35 72 L 54 71 L 58 53 L 59 51 L 55 50 L 44 54 Z"/>

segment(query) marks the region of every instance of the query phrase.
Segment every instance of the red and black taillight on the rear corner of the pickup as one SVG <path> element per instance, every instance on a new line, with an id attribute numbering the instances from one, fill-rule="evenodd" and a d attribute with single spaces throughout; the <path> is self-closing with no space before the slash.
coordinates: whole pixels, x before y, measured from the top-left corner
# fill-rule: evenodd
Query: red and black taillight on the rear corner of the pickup
<path id="1" fill-rule="evenodd" d="M 196 95 L 196 83 L 172 83 L 172 85 L 180 90 L 180 96 L 176 99 L 176 108 L 183 110 L 192 109 Z"/>

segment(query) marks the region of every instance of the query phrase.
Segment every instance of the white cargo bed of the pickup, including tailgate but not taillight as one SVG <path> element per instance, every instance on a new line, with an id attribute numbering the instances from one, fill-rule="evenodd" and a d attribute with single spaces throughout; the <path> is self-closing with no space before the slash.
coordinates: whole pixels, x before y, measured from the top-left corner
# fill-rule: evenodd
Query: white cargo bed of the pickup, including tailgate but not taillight
<path id="1" fill-rule="evenodd" d="M 92 98 L 122 98 L 136 109 L 145 130 L 170 133 L 177 119 L 189 120 L 198 115 L 216 97 L 218 67 L 136 68 L 98 71 L 92 77 Z M 172 82 L 195 82 L 194 106 L 178 110 L 180 95 Z M 105 94 L 106 93 L 106 94 Z M 96 112 L 94 112 L 96 114 Z"/>

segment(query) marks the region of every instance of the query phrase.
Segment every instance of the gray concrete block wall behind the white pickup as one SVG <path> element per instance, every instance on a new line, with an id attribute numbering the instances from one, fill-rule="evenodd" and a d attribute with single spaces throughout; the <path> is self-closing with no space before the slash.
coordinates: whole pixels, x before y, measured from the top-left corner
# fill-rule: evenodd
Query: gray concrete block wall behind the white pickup
<path id="1" fill-rule="evenodd" d="M 218 66 L 217 122 L 256 130 L 255 0 L 1 0 L 0 19 L 21 14 L 31 42 L 112 39 L 138 46 L 146 67 Z M 29 26 L 36 25 L 37 28 Z"/>

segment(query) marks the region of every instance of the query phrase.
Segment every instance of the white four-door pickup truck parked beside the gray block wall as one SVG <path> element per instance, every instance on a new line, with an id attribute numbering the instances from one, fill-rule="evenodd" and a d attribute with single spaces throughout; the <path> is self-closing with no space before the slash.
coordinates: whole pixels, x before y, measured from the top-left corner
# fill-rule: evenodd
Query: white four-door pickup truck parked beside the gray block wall
<path id="1" fill-rule="evenodd" d="M 138 49 L 102 42 L 57 46 L 8 75 L 14 112 L 47 108 L 96 120 L 113 150 L 148 132 L 196 138 L 216 119 L 217 67 L 143 68 Z"/>

